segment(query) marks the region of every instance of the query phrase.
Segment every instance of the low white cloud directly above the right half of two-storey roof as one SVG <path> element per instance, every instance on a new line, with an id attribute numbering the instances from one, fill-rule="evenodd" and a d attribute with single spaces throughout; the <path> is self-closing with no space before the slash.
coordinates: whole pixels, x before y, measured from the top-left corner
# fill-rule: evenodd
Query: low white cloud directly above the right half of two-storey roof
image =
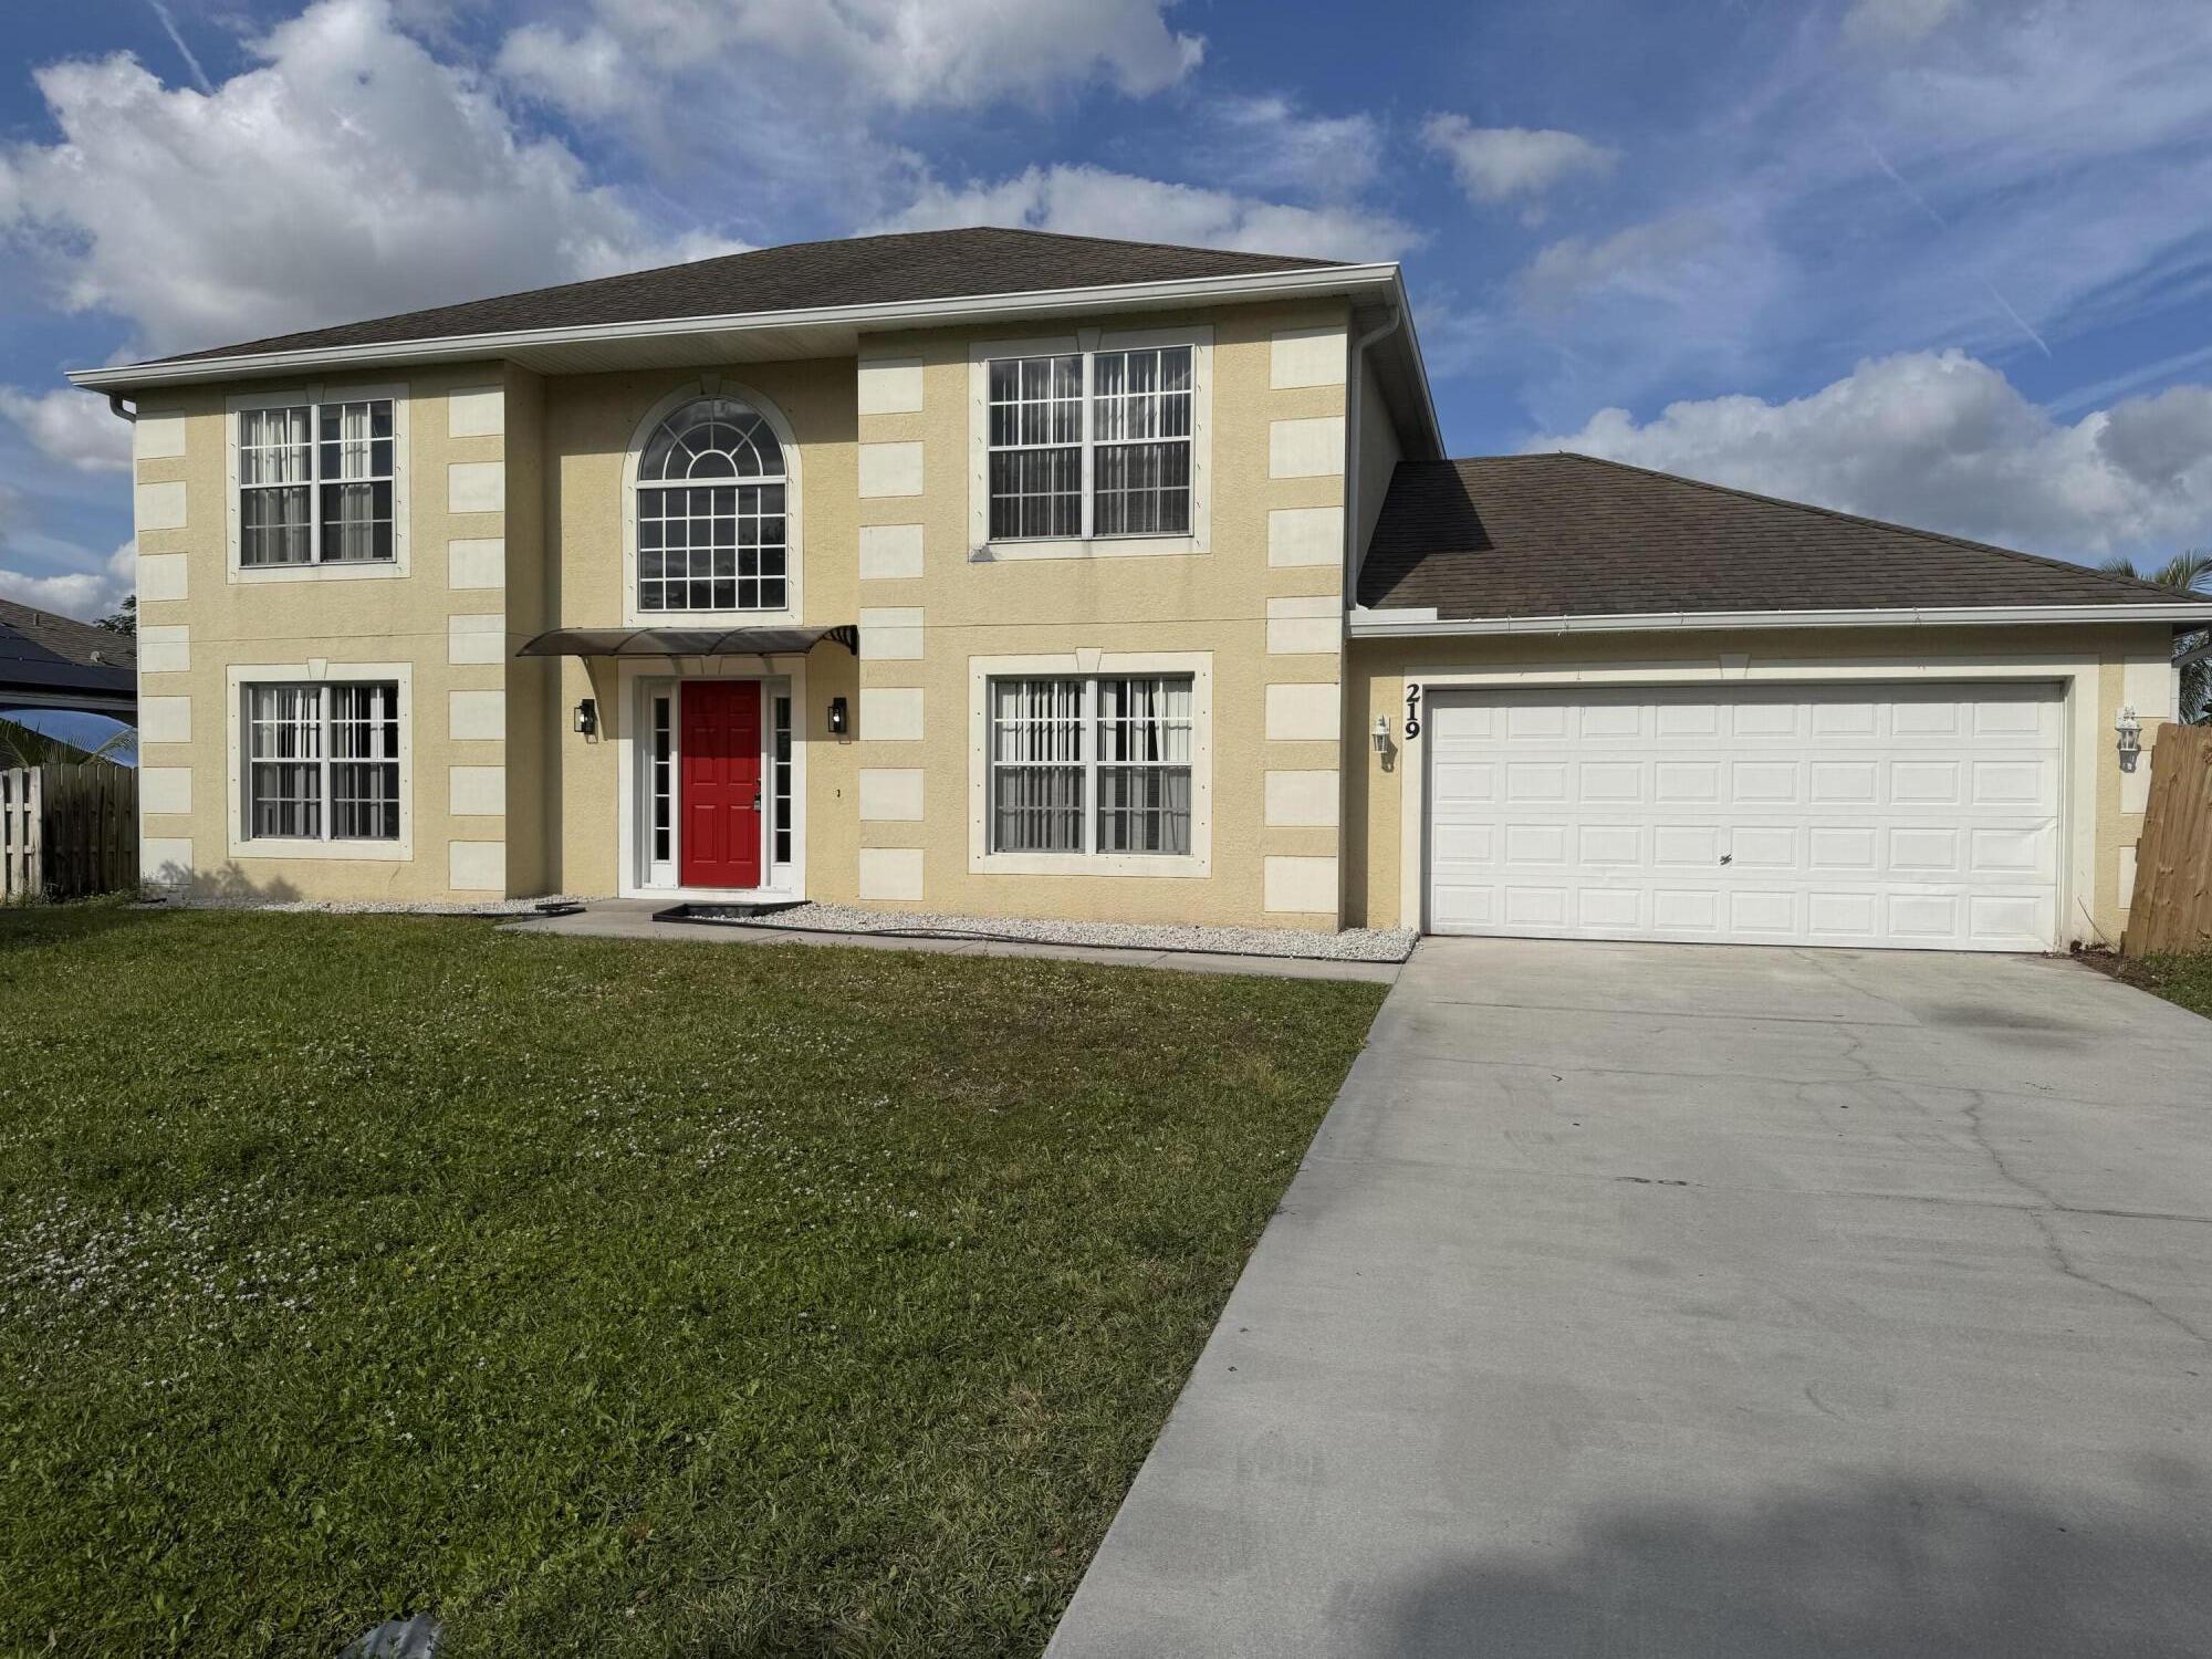
<path id="1" fill-rule="evenodd" d="M 1349 206 L 1294 208 L 1228 190 L 1139 179 L 1093 166 L 1029 168 L 998 184 L 929 184 L 883 230 L 1018 226 L 1316 259 L 1396 259 L 1418 234 Z"/>

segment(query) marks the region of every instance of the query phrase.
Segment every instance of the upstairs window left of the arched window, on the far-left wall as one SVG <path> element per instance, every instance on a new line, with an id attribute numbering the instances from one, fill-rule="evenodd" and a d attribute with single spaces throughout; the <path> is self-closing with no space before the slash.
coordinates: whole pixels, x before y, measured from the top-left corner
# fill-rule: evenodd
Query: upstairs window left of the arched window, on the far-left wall
<path id="1" fill-rule="evenodd" d="M 239 564 L 394 560 L 392 398 L 239 409 Z"/>

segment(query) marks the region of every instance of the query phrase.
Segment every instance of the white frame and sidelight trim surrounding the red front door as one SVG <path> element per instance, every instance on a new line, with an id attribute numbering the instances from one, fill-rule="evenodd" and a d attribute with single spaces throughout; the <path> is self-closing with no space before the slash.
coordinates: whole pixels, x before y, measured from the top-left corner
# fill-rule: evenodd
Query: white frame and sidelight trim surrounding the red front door
<path id="1" fill-rule="evenodd" d="M 748 613 L 750 615 L 750 613 Z M 810 717 L 807 717 L 807 664 L 803 657 L 770 661 L 772 672 L 721 672 L 721 659 L 717 657 L 648 657 L 644 661 L 624 661 L 617 675 L 617 703 L 619 728 L 613 734 L 615 741 L 615 772 L 622 779 L 617 799 L 617 827 L 615 827 L 615 856 L 617 856 L 617 896 L 619 898 L 697 898 L 697 900 L 719 900 L 728 905 L 743 905 L 748 900 L 794 900 L 807 896 L 807 748 L 810 748 Z M 768 701 L 779 695 L 779 688 L 787 688 L 792 699 L 792 863 L 774 863 L 774 838 L 772 825 L 761 823 L 768 845 L 761 849 L 761 872 L 768 878 L 765 887 L 684 887 L 681 883 L 655 885 L 653 880 L 653 790 L 646 783 L 646 765 L 650 761 L 648 741 L 653 737 L 653 695 L 668 686 L 684 686 L 697 679 L 759 679 L 761 681 L 761 759 L 763 765 L 774 763 L 774 723 L 770 719 Z M 670 763 L 675 765 L 677 787 L 681 790 L 684 779 L 684 712 L 675 710 L 675 730 L 670 732 Z M 763 794 L 772 785 L 763 783 Z M 675 869 L 684 867 L 684 810 L 677 807 L 675 821 L 668 825 L 668 863 Z"/>

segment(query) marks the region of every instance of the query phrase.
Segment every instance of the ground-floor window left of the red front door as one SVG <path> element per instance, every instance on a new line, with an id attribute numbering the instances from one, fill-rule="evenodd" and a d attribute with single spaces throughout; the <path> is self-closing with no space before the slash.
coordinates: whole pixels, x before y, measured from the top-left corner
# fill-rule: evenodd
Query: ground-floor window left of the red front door
<path id="1" fill-rule="evenodd" d="M 400 695 L 389 679 L 246 688 L 246 834 L 400 838 Z"/>

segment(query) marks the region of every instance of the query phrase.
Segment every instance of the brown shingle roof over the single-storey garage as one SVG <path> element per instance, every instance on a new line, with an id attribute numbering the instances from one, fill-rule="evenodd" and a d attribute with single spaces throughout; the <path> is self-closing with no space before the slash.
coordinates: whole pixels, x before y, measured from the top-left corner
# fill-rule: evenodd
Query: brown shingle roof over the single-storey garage
<path id="1" fill-rule="evenodd" d="M 1955 535 L 1553 453 L 1400 462 L 1358 597 L 1469 619 L 2181 595 Z"/>

